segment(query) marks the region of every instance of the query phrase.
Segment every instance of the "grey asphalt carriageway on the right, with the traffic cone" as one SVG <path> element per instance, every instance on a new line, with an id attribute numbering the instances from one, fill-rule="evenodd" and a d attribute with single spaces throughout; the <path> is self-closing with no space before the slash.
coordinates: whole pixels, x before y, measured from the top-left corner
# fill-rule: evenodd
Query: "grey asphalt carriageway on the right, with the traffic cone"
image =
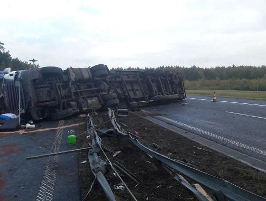
<path id="1" fill-rule="evenodd" d="M 147 107 L 176 126 L 266 161 L 266 101 L 188 95 L 182 102 Z M 185 103 L 185 104 L 182 104 Z"/>

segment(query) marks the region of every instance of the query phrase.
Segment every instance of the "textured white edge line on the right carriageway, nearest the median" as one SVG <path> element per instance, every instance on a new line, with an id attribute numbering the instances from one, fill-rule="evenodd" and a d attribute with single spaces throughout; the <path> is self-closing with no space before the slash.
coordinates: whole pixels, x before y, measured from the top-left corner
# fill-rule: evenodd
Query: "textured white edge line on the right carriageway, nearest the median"
<path id="1" fill-rule="evenodd" d="M 231 139 L 228 139 L 226 137 L 222 137 L 222 136 L 219 136 L 219 135 L 216 135 L 216 134 L 213 134 L 211 132 L 208 132 L 208 131 L 205 131 L 205 130 L 202 130 L 202 129 L 199 129 L 199 128 L 196 128 L 196 127 L 193 127 L 191 125 L 188 125 L 188 124 L 185 124 L 185 123 L 181 123 L 179 121 L 175 121 L 175 120 L 171 120 L 171 119 L 168 119 L 166 117 L 162 117 L 162 116 L 157 116 L 159 119 L 164 119 L 166 121 L 171 121 L 173 123 L 176 123 L 178 125 L 181 125 L 181 126 L 184 126 L 184 127 L 187 127 L 187 128 L 190 128 L 192 130 L 196 130 L 197 132 L 200 132 L 202 134 L 205 134 L 205 135 L 208 135 L 208 136 L 211 136 L 211 137 L 214 137 L 214 138 L 217 138 L 219 140 L 223 140 L 227 143 L 230 143 L 230 144 L 233 144 L 235 146 L 238 146 L 238 147 L 241 147 L 241 148 L 244 148 L 244 149 L 247 149 L 249 151 L 252 151 L 252 152 L 256 152 L 258 154 L 261 154 L 263 156 L 266 156 L 266 151 L 263 151 L 263 150 L 260 150 L 260 149 L 257 149 L 255 147 L 250 147 L 246 144 L 242 144 L 240 142 L 237 142 L 237 141 L 234 141 L 234 140 L 231 140 Z"/>

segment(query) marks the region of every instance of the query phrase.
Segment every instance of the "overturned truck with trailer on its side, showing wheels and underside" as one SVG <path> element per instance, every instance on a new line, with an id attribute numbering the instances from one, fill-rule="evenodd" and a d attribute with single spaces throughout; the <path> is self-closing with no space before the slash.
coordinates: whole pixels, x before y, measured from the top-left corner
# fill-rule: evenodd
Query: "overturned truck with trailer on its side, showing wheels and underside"
<path id="1" fill-rule="evenodd" d="M 110 72 L 106 65 L 90 68 L 43 67 L 5 69 L 1 113 L 28 120 L 58 120 L 107 107 L 131 108 L 186 98 L 181 73 L 164 69 Z"/>

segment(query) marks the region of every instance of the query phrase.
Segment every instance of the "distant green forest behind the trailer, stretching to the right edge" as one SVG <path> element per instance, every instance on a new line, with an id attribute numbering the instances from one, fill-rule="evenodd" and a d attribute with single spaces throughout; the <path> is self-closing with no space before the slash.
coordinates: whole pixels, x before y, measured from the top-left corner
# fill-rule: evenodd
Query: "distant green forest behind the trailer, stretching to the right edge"
<path id="1" fill-rule="evenodd" d="M 148 68 L 145 68 L 148 69 Z M 126 70 L 145 70 L 141 68 L 129 67 Z M 160 66 L 158 69 L 169 69 L 174 72 L 181 72 L 185 80 L 229 80 L 229 79 L 261 79 L 266 78 L 266 66 L 228 66 L 215 68 L 199 68 L 196 66 Z M 123 68 L 113 68 L 112 70 L 123 70 Z"/>

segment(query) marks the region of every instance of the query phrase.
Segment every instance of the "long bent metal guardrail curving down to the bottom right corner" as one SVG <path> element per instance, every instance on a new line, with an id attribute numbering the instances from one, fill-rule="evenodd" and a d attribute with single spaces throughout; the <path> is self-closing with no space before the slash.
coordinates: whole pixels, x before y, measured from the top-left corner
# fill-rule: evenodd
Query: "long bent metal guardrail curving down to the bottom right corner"
<path id="1" fill-rule="evenodd" d="M 198 182 L 200 185 L 205 186 L 213 192 L 221 191 L 226 198 L 232 201 L 266 201 L 265 198 L 258 196 L 254 193 L 246 191 L 227 180 L 215 177 L 213 175 L 202 172 L 198 169 L 190 167 L 188 165 L 182 164 L 181 162 L 174 161 L 163 154 L 155 152 L 150 148 L 141 144 L 137 139 L 135 139 L 130 134 L 126 133 L 121 126 L 117 123 L 114 115 L 114 111 L 108 108 L 108 116 L 111 119 L 112 125 L 115 130 L 126 136 L 135 146 L 147 153 L 148 155 L 154 157 L 158 161 L 166 164 L 172 169 L 180 172 L 181 174 L 187 176 L 188 178 Z"/>

